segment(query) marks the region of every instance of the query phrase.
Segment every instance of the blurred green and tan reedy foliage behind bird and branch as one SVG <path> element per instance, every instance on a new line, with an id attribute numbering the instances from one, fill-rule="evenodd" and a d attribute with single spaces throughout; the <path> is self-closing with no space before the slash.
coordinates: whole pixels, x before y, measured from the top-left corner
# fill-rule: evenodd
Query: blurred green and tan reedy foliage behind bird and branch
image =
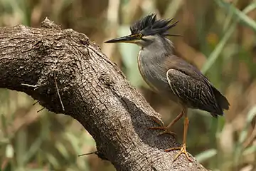
<path id="1" fill-rule="evenodd" d="M 0 0 L 0 26 L 38 27 L 46 16 L 85 33 L 122 68 L 133 86 L 169 123 L 179 108 L 153 93 L 137 69 L 139 48 L 104 44 L 129 25 L 157 13 L 179 20 L 176 53 L 198 68 L 230 101 L 218 120 L 189 110 L 188 151 L 211 170 L 256 170 L 256 1 L 252 0 Z M 96 155 L 95 142 L 73 118 L 55 115 L 24 93 L 0 90 L 1 170 L 114 170 Z M 183 133 L 182 121 L 174 125 Z M 181 141 L 182 136 L 178 136 Z"/>

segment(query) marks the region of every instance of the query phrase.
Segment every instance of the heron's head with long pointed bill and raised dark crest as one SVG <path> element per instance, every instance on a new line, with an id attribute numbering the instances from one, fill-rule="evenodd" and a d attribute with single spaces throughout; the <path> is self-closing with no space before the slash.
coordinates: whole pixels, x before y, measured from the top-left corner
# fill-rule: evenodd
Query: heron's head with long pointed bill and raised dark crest
<path id="1" fill-rule="evenodd" d="M 166 33 L 170 28 L 176 26 L 178 21 L 171 24 L 174 19 L 156 19 L 156 14 L 145 16 L 143 19 L 136 21 L 131 27 L 131 34 L 119 38 L 114 38 L 105 43 L 135 43 L 139 46 L 146 46 L 159 36 L 179 36 Z"/>

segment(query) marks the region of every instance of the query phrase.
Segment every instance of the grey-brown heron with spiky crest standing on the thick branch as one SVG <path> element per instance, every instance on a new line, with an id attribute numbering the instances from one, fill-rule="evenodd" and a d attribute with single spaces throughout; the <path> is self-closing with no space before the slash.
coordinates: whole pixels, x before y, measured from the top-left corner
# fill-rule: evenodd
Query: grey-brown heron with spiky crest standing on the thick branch
<path id="1" fill-rule="evenodd" d="M 137 63 L 142 78 L 150 88 L 177 103 L 182 109 L 169 125 L 164 126 L 154 120 L 160 126 L 151 129 L 164 130 L 160 135 L 175 134 L 171 128 L 184 117 L 182 145 L 165 151 L 179 150 L 174 161 L 184 154 L 192 162 L 186 151 L 188 108 L 205 110 L 218 118 L 224 110 L 229 109 L 230 103 L 198 68 L 174 54 L 174 43 L 168 37 L 180 35 L 168 31 L 177 24 L 178 21 L 174 22 L 174 19 L 156 19 L 156 14 L 149 14 L 130 26 L 131 34 L 128 36 L 113 38 L 105 43 L 134 43 L 140 46 Z"/>

